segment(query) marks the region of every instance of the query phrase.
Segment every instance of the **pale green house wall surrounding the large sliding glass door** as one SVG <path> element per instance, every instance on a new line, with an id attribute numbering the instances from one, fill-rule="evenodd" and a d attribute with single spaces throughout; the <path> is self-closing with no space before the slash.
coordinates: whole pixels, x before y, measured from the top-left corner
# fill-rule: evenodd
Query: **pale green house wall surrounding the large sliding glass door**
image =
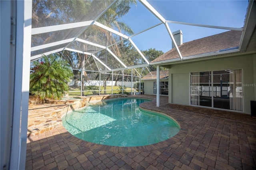
<path id="1" fill-rule="evenodd" d="M 169 69 L 169 103 L 190 105 L 190 73 L 242 69 L 244 113 L 251 114 L 250 101 L 256 100 L 256 54 L 201 60 L 171 65 Z M 172 78 L 170 78 L 172 77 Z M 249 85 L 249 86 L 248 86 Z"/>

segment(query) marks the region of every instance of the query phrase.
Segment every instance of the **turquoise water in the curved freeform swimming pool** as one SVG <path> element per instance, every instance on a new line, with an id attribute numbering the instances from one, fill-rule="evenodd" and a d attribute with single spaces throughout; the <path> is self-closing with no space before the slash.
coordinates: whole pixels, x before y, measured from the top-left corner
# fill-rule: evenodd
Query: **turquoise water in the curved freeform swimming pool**
<path id="1" fill-rule="evenodd" d="M 145 146 L 167 140 L 180 130 L 170 117 L 139 108 L 146 99 L 102 101 L 62 118 L 63 126 L 82 140 L 110 146 Z"/>

